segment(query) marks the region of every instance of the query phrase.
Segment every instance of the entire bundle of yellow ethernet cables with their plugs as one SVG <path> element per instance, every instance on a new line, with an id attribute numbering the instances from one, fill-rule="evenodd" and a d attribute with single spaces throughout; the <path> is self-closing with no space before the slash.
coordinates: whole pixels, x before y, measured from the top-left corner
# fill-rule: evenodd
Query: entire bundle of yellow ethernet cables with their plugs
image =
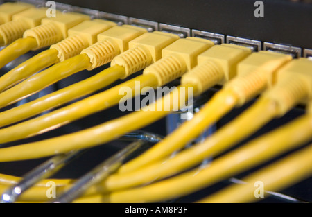
<path id="1" fill-rule="evenodd" d="M 312 139 L 311 60 L 272 51 L 254 52 L 236 44 L 214 44 L 199 37 L 149 32 L 78 12 L 58 11 L 51 18 L 44 12 L 45 8 L 26 3 L 0 6 L 0 43 L 5 46 L 0 51 L 0 67 L 29 51 L 42 50 L 0 78 L 1 144 L 43 134 L 112 108 L 125 100 L 119 94 L 124 87 L 132 90 L 128 99 L 137 96 L 136 83 L 140 83 L 139 93 L 177 79 L 180 85 L 141 110 L 92 128 L 1 147 L 0 162 L 51 157 L 38 168 L 41 173 L 31 173 L 40 175 L 0 175 L 2 202 L 162 202 L 200 191 L 288 152 L 245 177 L 245 184 L 233 184 L 196 202 L 255 202 L 254 182 L 261 180 L 268 191 L 279 191 L 311 177 L 312 149 L 306 145 Z M 79 71 L 93 71 L 106 64 L 109 67 L 85 80 L 12 107 Z M 121 83 L 114 85 L 117 80 Z M 192 119 L 125 164 L 119 160 L 137 146 L 128 146 L 81 180 L 50 179 L 55 171 L 44 167 L 48 163 L 62 168 L 80 150 L 105 146 L 155 123 L 182 109 L 190 97 L 216 85 L 220 90 Z M 186 148 L 209 126 L 255 98 L 234 120 Z M 302 116 L 237 146 L 297 105 L 306 107 Z M 212 157 L 212 162 L 199 168 L 207 157 Z M 46 197 L 49 181 L 57 185 L 58 197 L 53 201 Z"/>

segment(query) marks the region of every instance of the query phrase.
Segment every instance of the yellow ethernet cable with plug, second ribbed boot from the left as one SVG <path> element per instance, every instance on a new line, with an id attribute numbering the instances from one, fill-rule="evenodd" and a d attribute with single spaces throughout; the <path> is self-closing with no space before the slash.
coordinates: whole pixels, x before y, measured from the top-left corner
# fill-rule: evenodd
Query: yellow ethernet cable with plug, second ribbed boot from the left
<path id="1" fill-rule="evenodd" d="M 0 68 L 28 51 L 42 49 L 64 40 L 69 28 L 89 19 L 87 15 L 60 11 L 57 12 L 56 17 L 42 19 L 40 26 L 27 29 L 24 31 L 23 38 L 15 40 L 0 51 Z"/>

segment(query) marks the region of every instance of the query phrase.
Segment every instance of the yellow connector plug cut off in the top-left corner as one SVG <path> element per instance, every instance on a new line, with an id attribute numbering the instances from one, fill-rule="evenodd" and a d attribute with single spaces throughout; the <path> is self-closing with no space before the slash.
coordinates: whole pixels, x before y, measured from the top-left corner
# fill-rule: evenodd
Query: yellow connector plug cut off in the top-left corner
<path id="1" fill-rule="evenodd" d="M 12 21 L 12 16 L 35 6 L 24 2 L 6 2 L 0 5 L 0 24 Z"/>

